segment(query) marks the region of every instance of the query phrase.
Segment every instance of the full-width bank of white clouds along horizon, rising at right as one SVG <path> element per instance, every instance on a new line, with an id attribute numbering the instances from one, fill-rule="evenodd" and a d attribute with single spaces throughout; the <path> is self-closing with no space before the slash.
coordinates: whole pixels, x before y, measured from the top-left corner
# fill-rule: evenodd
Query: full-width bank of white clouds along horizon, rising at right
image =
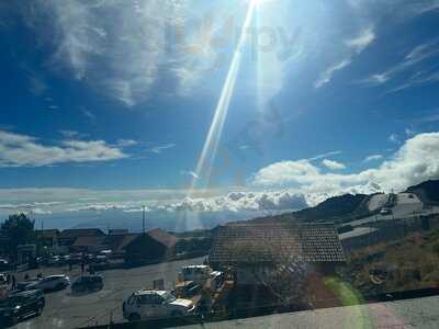
<path id="1" fill-rule="evenodd" d="M 368 159 L 378 161 L 381 157 L 371 156 Z M 294 211 L 345 193 L 401 192 L 410 185 L 439 178 L 438 159 L 439 133 L 428 133 L 407 139 L 381 164 L 357 173 L 340 173 L 338 171 L 346 166 L 327 159 L 320 166 L 315 159 L 280 161 L 258 170 L 246 188 L 226 194 L 221 190 L 200 192 L 194 197 L 187 197 L 185 191 L 177 190 L 1 189 L 2 200 L 21 197 L 22 201 L 38 202 L 0 204 L 0 211 L 23 211 L 35 215 L 112 209 L 135 213 L 142 212 L 145 204 L 148 212 L 168 213 Z"/>

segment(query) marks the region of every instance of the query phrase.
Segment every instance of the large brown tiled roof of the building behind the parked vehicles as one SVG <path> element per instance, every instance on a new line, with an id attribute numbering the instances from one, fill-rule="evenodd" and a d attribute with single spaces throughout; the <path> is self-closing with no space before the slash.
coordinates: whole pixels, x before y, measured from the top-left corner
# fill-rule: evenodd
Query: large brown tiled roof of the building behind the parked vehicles
<path id="1" fill-rule="evenodd" d="M 271 263 L 292 258 L 342 262 L 345 253 L 330 224 L 232 224 L 219 227 L 209 257 L 221 264 Z"/>

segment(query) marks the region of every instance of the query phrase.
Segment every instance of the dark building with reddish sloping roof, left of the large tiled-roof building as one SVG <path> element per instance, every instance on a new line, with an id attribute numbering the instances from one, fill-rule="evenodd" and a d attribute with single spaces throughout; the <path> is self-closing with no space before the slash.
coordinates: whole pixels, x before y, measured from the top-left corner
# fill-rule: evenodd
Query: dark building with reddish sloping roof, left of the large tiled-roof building
<path id="1" fill-rule="evenodd" d="M 177 238 L 160 228 L 148 230 L 123 247 L 127 263 L 147 263 L 170 259 L 175 254 Z"/>

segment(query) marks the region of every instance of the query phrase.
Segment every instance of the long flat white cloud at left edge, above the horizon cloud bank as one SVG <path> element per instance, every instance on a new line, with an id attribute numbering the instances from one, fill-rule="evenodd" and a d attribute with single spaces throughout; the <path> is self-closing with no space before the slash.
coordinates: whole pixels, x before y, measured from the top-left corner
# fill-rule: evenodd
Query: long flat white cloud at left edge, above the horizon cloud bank
<path id="1" fill-rule="evenodd" d="M 0 131 L 0 167 L 43 167 L 126 157 L 121 149 L 103 140 L 61 140 L 53 146 L 44 145 L 35 137 Z"/>

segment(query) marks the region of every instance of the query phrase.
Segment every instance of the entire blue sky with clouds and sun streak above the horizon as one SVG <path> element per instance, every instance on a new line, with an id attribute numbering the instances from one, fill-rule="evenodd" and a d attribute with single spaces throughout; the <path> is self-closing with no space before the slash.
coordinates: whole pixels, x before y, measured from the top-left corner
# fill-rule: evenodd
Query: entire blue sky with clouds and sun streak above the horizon
<path id="1" fill-rule="evenodd" d="M 439 178 L 439 2 L 2 2 L 0 209 L 283 211 Z"/>

